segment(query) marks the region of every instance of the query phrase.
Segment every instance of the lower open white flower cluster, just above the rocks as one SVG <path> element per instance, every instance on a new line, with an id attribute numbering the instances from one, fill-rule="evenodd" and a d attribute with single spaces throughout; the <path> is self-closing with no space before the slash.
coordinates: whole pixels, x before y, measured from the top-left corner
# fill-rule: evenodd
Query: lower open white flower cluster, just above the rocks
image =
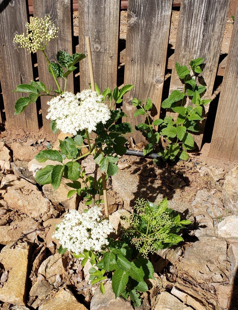
<path id="1" fill-rule="evenodd" d="M 102 210 L 94 206 L 85 213 L 70 210 L 63 221 L 56 225 L 54 238 L 63 248 L 79 254 L 84 250 L 101 251 L 108 245 L 108 235 L 113 232 L 113 225 L 102 220 Z"/>

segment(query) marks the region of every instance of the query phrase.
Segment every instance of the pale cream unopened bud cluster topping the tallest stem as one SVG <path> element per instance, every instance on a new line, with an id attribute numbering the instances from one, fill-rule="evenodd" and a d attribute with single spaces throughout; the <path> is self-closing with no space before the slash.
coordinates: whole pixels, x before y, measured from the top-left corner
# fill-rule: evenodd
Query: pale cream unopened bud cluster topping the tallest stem
<path id="1" fill-rule="evenodd" d="M 30 23 L 26 24 L 27 34 L 16 34 L 14 42 L 18 47 L 25 47 L 29 52 L 44 49 L 46 44 L 57 38 L 58 28 L 50 20 L 50 15 L 43 18 L 30 17 Z"/>

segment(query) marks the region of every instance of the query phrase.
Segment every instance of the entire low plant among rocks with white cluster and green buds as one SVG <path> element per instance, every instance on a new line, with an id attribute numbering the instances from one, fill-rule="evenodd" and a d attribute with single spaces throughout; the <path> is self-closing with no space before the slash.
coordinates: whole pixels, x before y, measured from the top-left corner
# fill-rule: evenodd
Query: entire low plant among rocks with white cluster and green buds
<path id="1" fill-rule="evenodd" d="M 67 213 L 56 226 L 54 237 L 61 244 L 59 253 L 70 250 L 74 257 L 82 259 L 82 267 L 90 261 L 92 285 L 100 283 L 104 294 L 103 281 L 111 278 L 115 297 L 130 296 L 134 306 L 139 307 L 141 294 L 148 290 L 146 280 L 154 279 L 148 254 L 183 241 L 179 231 L 191 222 L 181 221 L 180 215 L 167 207 L 167 199 L 159 204 L 138 199 L 135 209 L 124 218 L 130 225 L 120 240 L 109 238 L 112 225 L 102 219 L 98 206 L 83 214 L 76 210 Z"/>

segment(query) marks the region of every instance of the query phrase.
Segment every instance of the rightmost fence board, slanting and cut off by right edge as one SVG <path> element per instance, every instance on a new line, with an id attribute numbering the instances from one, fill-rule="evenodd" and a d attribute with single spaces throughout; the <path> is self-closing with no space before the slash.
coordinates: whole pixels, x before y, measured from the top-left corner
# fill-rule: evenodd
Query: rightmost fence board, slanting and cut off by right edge
<path id="1" fill-rule="evenodd" d="M 236 14 L 238 14 L 238 9 Z M 237 15 L 236 15 L 237 16 Z M 238 160 L 238 20 L 235 19 L 209 156 Z"/>

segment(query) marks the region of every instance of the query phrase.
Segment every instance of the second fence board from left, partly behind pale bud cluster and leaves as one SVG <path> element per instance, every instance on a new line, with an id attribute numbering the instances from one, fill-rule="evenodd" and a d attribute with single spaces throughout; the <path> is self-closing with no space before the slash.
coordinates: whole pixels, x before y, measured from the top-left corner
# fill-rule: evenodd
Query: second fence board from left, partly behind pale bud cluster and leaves
<path id="1" fill-rule="evenodd" d="M 33 0 L 34 16 L 44 18 L 45 15 L 50 15 L 51 20 L 59 28 L 58 38 L 51 40 L 46 47 L 46 55 L 50 62 L 56 62 L 57 51 L 67 51 L 70 55 L 72 54 L 72 29 L 71 29 L 71 1 L 70 0 Z M 52 89 L 57 89 L 54 78 L 48 72 L 48 64 L 45 60 L 44 55 L 41 51 L 37 51 L 37 63 L 39 80 L 47 87 L 52 86 Z M 58 83 L 61 89 L 64 86 L 64 79 L 58 78 Z M 67 91 L 74 92 L 73 85 L 73 74 L 70 74 L 67 82 Z M 51 132 L 50 120 L 45 118 L 47 114 L 47 101 L 51 97 L 41 97 L 41 110 L 43 118 L 44 131 Z"/>

